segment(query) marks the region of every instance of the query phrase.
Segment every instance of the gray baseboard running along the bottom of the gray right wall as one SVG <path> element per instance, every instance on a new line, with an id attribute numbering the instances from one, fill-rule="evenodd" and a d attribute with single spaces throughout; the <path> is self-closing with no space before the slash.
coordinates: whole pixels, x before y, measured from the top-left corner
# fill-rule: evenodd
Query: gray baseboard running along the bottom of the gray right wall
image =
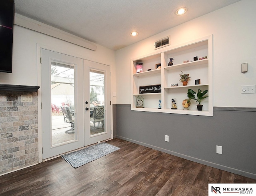
<path id="1" fill-rule="evenodd" d="M 126 140 L 128 142 L 132 142 L 132 143 L 135 143 L 135 144 L 139 144 L 139 145 L 142 145 L 142 146 L 145 146 L 145 147 L 148 147 L 148 148 L 152 148 L 154 150 L 159 150 L 159 151 L 165 152 L 167 154 L 178 156 L 180 158 L 184 158 L 186 160 L 190 160 L 190 161 L 193 161 L 193 162 L 196 162 L 196 163 L 200 163 L 200 164 L 207 165 L 207 166 L 210 166 L 210 167 L 213 167 L 213 168 L 224 170 L 226 172 L 231 172 L 231 173 L 238 174 L 238 175 L 241 175 L 241 176 L 245 176 L 245 177 L 248 177 L 248 178 L 256 179 L 256 174 L 252 174 L 250 172 L 245 172 L 245 171 L 238 170 L 238 169 L 235 169 L 235 168 L 230 168 L 230 167 L 223 166 L 223 165 L 220 165 L 220 164 L 216 164 L 216 163 L 213 163 L 213 162 L 208 162 L 206 160 L 194 158 L 192 156 L 187 156 L 187 155 L 184 155 L 184 154 L 180 154 L 178 152 L 173 152 L 171 150 L 166 150 L 164 148 L 160 148 L 160 147 L 157 147 L 157 146 L 153 146 L 153 145 L 150 145 L 150 144 L 146 144 L 146 143 L 143 143 L 143 142 L 139 142 L 139 141 L 136 141 L 136 140 L 125 138 L 125 137 L 122 137 L 122 136 L 117 136 L 117 138 L 120 138 L 122 140 Z"/>

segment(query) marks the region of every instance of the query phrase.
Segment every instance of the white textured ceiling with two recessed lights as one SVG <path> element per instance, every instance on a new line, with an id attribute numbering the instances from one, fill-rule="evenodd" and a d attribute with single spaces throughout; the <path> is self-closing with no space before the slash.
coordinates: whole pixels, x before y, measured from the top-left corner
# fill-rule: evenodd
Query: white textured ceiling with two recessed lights
<path id="1" fill-rule="evenodd" d="M 118 50 L 238 1 L 15 0 L 15 12 Z M 181 7 L 188 11 L 177 16 Z M 132 31 L 138 36 L 130 36 Z"/>

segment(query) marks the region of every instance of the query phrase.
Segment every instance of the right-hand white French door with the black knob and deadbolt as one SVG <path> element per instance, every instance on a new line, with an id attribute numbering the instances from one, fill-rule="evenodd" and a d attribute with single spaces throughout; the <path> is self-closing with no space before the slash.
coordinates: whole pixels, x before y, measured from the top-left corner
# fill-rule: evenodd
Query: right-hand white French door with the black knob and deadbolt
<path id="1" fill-rule="evenodd" d="M 85 146 L 110 139 L 110 66 L 84 60 L 84 98 Z"/>

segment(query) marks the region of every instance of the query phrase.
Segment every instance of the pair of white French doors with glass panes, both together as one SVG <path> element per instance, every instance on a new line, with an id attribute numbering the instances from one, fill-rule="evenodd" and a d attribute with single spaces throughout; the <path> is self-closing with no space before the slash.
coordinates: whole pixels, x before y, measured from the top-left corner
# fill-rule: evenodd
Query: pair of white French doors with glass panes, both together
<path id="1" fill-rule="evenodd" d="M 110 134 L 110 67 L 41 49 L 42 158 Z"/>

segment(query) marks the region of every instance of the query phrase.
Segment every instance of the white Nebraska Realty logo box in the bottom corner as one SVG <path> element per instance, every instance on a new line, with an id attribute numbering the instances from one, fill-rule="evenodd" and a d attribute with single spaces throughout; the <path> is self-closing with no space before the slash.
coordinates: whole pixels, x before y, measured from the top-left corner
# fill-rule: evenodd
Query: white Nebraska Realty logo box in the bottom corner
<path id="1" fill-rule="evenodd" d="M 216 194 L 256 196 L 256 184 L 208 184 L 208 196 Z"/>

